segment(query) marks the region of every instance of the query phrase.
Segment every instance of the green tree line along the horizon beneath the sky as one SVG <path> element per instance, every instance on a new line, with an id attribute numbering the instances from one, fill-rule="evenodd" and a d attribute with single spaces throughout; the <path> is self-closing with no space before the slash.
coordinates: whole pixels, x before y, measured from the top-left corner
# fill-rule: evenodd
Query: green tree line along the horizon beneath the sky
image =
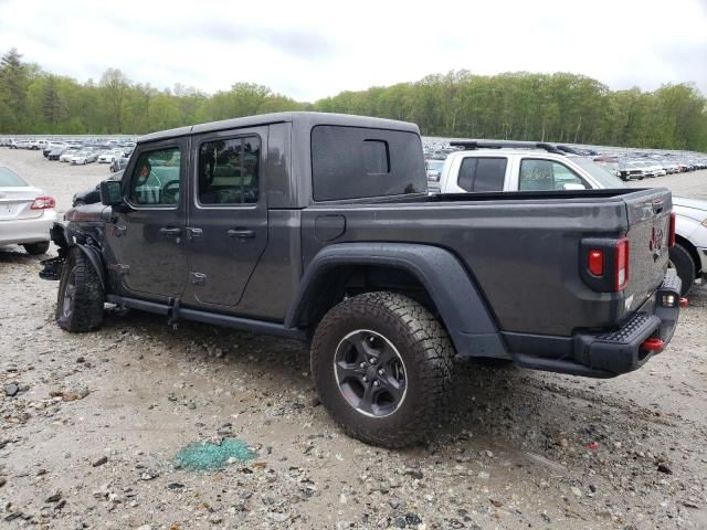
<path id="1" fill-rule="evenodd" d="M 157 89 L 115 68 L 78 83 L 23 62 L 15 49 L 0 59 L 0 134 L 139 135 L 282 110 L 402 119 L 425 136 L 707 151 L 707 99 L 685 83 L 611 91 L 571 73 L 458 71 L 304 103 L 245 82 L 213 95 Z"/>

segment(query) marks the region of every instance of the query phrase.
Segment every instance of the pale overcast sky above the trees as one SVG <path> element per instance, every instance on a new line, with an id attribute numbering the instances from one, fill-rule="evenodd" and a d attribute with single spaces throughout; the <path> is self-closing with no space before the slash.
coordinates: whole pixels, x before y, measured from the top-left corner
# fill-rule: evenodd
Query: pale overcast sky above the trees
<path id="1" fill-rule="evenodd" d="M 0 54 L 78 82 L 256 83 L 299 102 L 466 70 L 707 95 L 707 0 L 0 0 Z"/>

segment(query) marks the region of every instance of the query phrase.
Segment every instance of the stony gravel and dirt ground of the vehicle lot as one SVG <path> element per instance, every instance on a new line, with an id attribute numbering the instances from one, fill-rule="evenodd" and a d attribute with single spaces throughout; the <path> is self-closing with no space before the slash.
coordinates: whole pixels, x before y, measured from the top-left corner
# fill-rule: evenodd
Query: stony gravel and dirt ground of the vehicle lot
<path id="1" fill-rule="evenodd" d="M 0 165 L 61 210 L 108 174 L 35 151 Z M 647 183 L 707 199 L 707 171 Z M 0 527 L 707 528 L 706 288 L 669 349 L 619 379 L 458 363 L 436 439 L 389 452 L 317 406 L 302 344 L 116 310 L 70 335 L 38 261 L 0 250 Z M 254 457 L 175 459 L 230 437 Z"/>

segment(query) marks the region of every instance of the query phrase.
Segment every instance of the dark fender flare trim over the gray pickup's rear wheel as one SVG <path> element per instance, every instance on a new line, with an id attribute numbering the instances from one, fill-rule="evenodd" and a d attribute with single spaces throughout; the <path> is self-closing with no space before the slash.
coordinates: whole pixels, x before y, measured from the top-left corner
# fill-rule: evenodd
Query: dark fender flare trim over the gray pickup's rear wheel
<path id="1" fill-rule="evenodd" d="M 329 271 L 356 265 L 401 268 L 414 276 L 432 298 L 460 356 L 511 358 L 475 279 L 454 254 L 432 245 L 340 243 L 323 248 L 306 268 L 285 327 L 298 326 Z"/>

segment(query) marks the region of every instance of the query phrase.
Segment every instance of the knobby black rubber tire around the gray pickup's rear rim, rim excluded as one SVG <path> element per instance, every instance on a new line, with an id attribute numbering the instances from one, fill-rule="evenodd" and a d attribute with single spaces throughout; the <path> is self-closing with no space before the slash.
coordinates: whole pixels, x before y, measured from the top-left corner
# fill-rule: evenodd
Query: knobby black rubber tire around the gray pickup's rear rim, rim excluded
<path id="1" fill-rule="evenodd" d="M 384 337 L 404 363 L 404 396 L 383 417 L 366 415 L 351 405 L 337 380 L 337 348 L 357 330 Z M 312 343 L 312 373 L 319 400 L 349 436 L 395 448 L 428 438 L 444 421 L 453 357 L 445 329 L 422 305 L 393 293 L 367 293 L 341 301 L 324 316 Z"/>

